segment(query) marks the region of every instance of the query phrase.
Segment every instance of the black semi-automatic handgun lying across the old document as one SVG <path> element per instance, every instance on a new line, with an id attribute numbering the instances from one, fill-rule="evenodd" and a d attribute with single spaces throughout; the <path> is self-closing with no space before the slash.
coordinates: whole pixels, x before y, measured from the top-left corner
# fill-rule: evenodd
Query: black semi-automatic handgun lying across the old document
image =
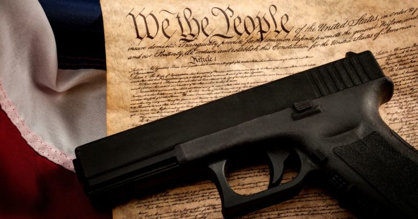
<path id="1" fill-rule="evenodd" d="M 191 176 L 216 185 L 224 217 L 289 200 L 311 182 L 363 218 L 418 218 L 418 152 L 379 107 L 393 95 L 372 53 L 346 57 L 152 121 L 75 149 L 84 191 L 98 208 Z M 226 178 L 233 157 L 268 159 L 266 190 L 244 196 Z M 293 157 L 298 174 L 281 183 Z"/>

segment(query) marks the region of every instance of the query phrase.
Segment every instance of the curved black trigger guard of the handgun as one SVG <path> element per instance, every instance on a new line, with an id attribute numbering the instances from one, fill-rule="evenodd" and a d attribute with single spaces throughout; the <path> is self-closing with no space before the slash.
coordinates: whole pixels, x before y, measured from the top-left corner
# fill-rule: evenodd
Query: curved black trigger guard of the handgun
<path id="1" fill-rule="evenodd" d="M 304 187 L 306 176 L 317 168 L 303 154 L 298 153 L 298 155 L 300 156 L 301 169 L 295 179 L 281 185 L 278 185 L 279 182 L 276 182 L 275 186 L 270 185 L 267 190 L 249 196 L 238 194 L 229 186 L 225 175 L 227 160 L 210 164 L 208 167 L 213 173 L 212 181 L 215 183 L 221 196 L 224 217 L 235 217 L 295 197 Z"/>

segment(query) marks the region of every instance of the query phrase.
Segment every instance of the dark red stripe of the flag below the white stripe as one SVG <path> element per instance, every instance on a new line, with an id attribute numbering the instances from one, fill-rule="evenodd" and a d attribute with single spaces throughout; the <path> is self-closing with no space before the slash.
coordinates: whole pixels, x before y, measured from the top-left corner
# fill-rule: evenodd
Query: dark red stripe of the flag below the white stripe
<path id="1" fill-rule="evenodd" d="M 0 110 L 0 218 L 112 218 L 97 212 L 73 172 L 36 153 Z"/>

